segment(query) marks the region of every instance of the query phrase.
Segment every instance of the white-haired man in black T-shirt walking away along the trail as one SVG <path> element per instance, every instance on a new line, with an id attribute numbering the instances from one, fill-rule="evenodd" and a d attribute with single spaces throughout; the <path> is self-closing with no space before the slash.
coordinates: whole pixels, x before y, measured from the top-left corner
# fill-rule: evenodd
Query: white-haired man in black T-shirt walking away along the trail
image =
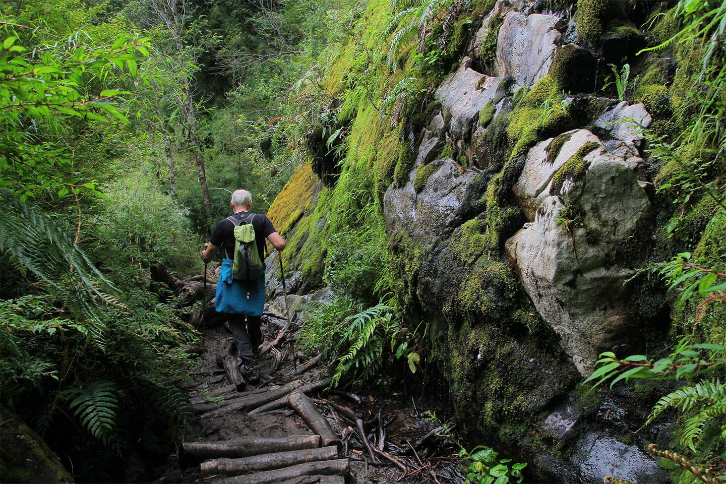
<path id="1" fill-rule="evenodd" d="M 240 366 L 242 377 L 248 382 L 256 382 L 258 380 L 256 356 L 258 347 L 262 343 L 260 324 L 265 304 L 263 255 L 265 239 L 280 252 L 285 249 L 285 239 L 280 237 L 266 215 L 250 212 L 252 195 L 247 190 L 235 191 L 229 205 L 232 205 L 234 214 L 217 223 L 210 242 L 204 245 L 202 260 L 211 261 L 217 250 L 221 250 L 223 258 L 217 281 L 216 311 L 227 314 L 229 329 L 237 343 L 237 364 Z M 253 235 L 248 230 L 249 227 L 246 227 L 248 224 L 251 224 L 254 230 Z M 251 255 L 249 258 L 245 258 L 245 253 L 235 255 L 235 242 L 240 239 L 239 235 L 235 237 L 237 227 L 241 228 L 237 229 L 237 234 L 248 233 L 250 242 L 247 245 L 249 249 L 247 253 Z M 242 242 L 238 244 L 237 247 L 240 247 Z M 253 253 L 253 249 L 256 249 L 256 254 Z M 258 260 L 255 260 L 255 255 L 258 256 Z M 240 266 L 249 263 L 247 259 L 258 264 L 261 274 L 250 275 L 256 272 L 253 266 L 245 269 L 246 274 L 242 268 L 234 266 L 235 263 Z M 233 269 L 238 271 L 233 274 Z"/>

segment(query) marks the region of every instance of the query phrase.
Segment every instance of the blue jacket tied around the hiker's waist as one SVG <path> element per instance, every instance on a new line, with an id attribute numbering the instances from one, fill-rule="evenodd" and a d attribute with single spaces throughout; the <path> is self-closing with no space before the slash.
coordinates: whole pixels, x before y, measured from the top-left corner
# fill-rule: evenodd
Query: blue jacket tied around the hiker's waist
<path id="1" fill-rule="evenodd" d="M 217 280 L 216 310 L 218 313 L 247 314 L 262 316 L 265 305 L 265 264 L 262 275 L 256 282 L 235 281 L 232 277 L 232 261 L 222 259 L 221 271 Z M 249 287 L 256 285 L 257 287 Z M 250 298 L 247 298 L 247 294 Z"/>

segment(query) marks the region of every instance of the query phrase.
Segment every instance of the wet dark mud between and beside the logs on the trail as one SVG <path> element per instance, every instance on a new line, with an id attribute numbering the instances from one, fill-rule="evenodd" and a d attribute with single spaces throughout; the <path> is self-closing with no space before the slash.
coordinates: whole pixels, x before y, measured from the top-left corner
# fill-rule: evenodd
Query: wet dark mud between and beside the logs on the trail
<path id="1" fill-rule="evenodd" d="M 282 321 L 263 319 L 265 342 L 274 339 L 282 329 Z M 200 368 L 189 382 L 189 396 L 192 402 L 215 401 L 210 393 L 228 385 L 223 370 L 217 364 L 220 345 L 230 336 L 224 327 L 206 329 L 204 346 L 206 353 L 201 358 Z M 303 382 L 322 380 L 326 376 L 325 362 L 320 361 L 301 375 L 292 376 L 295 366 L 291 358 L 293 347 L 284 341 L 261 358 L 261 380 L 274 366 L 274 357 L 280 361 L 277 370 L 269 375 L 270 381 L 260 385 L 248 385 L 243 395 L 252 395 L 271 390 L 278 385 L 300 378 Z M 298 366 L 305 357 L 299 352 Z M 432 415 L 436 410 L 436 398 L 430 392 L 407 390 L 383 390 L 371 387 L 351 395 L 322 392 L 309 395 L 319 411 L 330 422 L 333 431 L 343 440 L 340 457 L 347 457 L 351 475 L 349 483 L 463 483 L 464 477 L 457 472 L 456 454 L 459 450 L 452 435 L 453 426 L 445 425 Z M 219 399 L 219 397 L 216 397 Z M 229 396 L 227 397 L 229 398 Z M 357 400 L 357 401 L 356 401 Z M 346 407 L 364 421 L 364 430 L 371 446 L 377 446 L 392 459 L 375 452 L 371 458 L 364 443 L 357 435 L 356 425 L 343 417 L 339 409 Z M 442 428 L 442 425 L 444 427 Z M 383 430 L 382 430 L 383 429 Z M 312 435 L 313 432 L 303 419 L 292 409 L 278 409 L 261 414 L 246 414 L 242 411 L 228 411 L 224 414 L 200 414 L 187 441 L 214 442 L 232 440 L 246 436 L 285 437 L 290 435 Z M 448 435 L 448 436 L 446 436 Z M 187 467 L 179 462 L 177 453 L 169 462 L 169 470 L 158 483 L 204 483 L 215 476 L 203 476 L 198 465 Z M 396 463 L 391 462 L 396 461 Z M 219 477 L 219 476 L 218 476 Z"/>

